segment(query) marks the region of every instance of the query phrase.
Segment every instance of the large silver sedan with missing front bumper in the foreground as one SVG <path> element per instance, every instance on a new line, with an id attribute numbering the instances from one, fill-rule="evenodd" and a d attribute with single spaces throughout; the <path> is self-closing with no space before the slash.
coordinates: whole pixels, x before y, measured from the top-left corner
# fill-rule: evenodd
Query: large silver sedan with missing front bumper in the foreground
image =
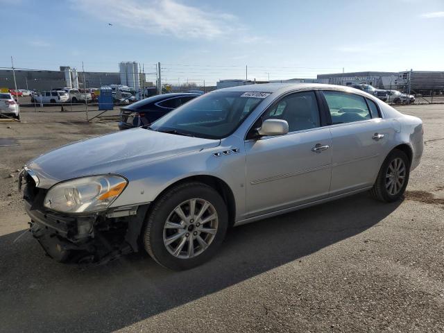
<path id="1" fill-rule="evenodd" d="M 220 89 L 149 127 L 62 146 L 19 177 L 31 231 L 61 262 L 145 249 L 180 270 L 240 225 L 361 191 L 398 200 L 422 121 L 349 87 Z"/>

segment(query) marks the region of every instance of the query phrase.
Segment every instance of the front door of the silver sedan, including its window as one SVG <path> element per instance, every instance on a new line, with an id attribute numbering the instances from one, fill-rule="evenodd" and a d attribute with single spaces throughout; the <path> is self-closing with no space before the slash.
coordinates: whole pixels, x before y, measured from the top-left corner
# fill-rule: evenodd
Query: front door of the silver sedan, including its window
<path id="1" fill-rule="evenodd" d="M 287 135 L 248 139 L 246 217 L 325 198 L 330 189 L 332 137 L 321 127 L 313 91 L 284 96 L 259 119 L 284 119 Z"/>

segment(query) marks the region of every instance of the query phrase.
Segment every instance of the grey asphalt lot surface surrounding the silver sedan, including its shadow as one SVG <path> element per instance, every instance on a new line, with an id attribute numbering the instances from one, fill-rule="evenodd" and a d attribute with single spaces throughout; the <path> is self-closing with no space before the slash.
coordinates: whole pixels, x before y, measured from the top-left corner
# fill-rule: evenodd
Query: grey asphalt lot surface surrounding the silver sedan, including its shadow
<path id="1" fill-rule="evenodd" d="M 444 332 L 444 105 L 399 109 L 422 118 L 426 141 L 404 200 L 359 194 L 242 225 L 180 273 L 143 254 L 92 268 L 45 257 L 23 234 L 17 169 L 117 124 L 0 122 L 0 332 Z"/>

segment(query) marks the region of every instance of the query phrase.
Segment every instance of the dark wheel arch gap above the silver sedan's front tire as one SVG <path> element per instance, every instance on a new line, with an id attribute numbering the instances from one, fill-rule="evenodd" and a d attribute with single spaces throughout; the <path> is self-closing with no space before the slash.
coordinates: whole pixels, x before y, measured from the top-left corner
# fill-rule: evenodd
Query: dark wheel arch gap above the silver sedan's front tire
<path id="1" fill-rule="evenodd" d="M 185 182 L 202 182 L 205 185 L 208 185 L 215 189 L 220 196 L 225 201 L 228 210 L 228 225 L 231 227 L 234 225 L 234 221 L 236 219 L 236 201 L 234 199 L 234 194 L 230 186 L 221 178 L 210 175 L 193 175 L 182 178 L 180 180 L 176 180 L 176 182 L 171 183 L 167 187 L 165 187 L 155 198 L 160 198 L 162 194 L 169 191 L 172 187 L 183 184 Z"/>

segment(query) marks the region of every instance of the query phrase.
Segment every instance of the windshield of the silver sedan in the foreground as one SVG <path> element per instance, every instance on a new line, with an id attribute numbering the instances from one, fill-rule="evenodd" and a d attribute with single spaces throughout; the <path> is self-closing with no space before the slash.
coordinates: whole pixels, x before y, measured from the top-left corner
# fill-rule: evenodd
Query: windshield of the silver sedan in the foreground
<path id="1" fill-rule="evenodd" d="M 207 139 L 221 139 L 236 130 L 268 96 L 244 92 L 213 92 L 198 97 L 155 121 L 151 130 Z"/>

